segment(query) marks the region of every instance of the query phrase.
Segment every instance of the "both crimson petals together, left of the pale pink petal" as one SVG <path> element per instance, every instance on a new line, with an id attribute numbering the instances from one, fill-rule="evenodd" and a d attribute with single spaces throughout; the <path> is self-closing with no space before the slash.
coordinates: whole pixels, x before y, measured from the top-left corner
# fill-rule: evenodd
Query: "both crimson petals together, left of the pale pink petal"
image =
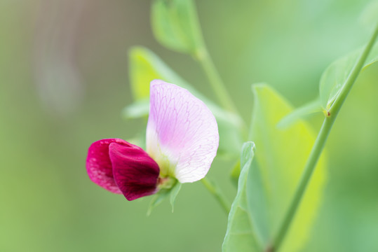
<path id="1" fill-rule="evenodd" d="M 127 200 L 156 192 L 159 168 L 142 150 L 122 139 L 95 141 L 88 151 L 86 168 L 90 179 Z"/>

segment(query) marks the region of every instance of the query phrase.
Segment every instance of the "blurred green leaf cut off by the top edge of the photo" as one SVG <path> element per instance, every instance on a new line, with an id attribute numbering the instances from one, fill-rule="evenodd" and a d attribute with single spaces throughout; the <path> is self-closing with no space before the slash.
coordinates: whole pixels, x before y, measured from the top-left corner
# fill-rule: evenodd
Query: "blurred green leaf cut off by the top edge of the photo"
<path id="1" fill-rule="evenodd" d="M 203 48 L 196 6 L 191 0 L 155 0 L 152 4 L 152 31 L 171 50 L 196 55 Z"/>

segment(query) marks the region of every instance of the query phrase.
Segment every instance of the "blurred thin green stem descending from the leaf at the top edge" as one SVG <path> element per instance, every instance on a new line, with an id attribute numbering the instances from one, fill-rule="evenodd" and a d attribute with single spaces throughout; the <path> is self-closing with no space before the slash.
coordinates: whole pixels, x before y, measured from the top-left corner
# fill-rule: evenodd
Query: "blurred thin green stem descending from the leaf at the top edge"
<path id="1" fill-rule="evenodd" d="M 212 62 L 212 59 L 208 53 L 208 49 L 205 47 L 205 45 L 203 45 L 202 50 L 197 53 L 196 58 L 198 59 L 198 62 L 201 63 L 206 76 L 208 76 L 212 90 L 215 92 L 215 95 L 217 96 L 220 104 L 222 104 L 224 109 L 227 109 L 227 111 L 238 114 L 238 110 L 236 109 L 234 102 L 229 96 L 229 92 L 227 92 L 222 78 L 220 78 L 220 74 L 215 68 L 215 65 Z"/>

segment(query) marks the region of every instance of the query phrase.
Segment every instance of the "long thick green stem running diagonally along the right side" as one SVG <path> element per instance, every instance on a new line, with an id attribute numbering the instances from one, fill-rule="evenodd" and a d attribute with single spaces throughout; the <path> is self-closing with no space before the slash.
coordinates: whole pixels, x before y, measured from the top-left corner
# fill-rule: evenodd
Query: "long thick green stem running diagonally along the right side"
<path id="1" fill-rule="evenodd" d="M 339 113 L 342 104 L 344 103 L 346 97 L 348 96 L 351 88 L 353 87 L 353 83 L 355 83 L 356 78 L 358 77 L 358 74 L 360 73 L 361 69 L 363 68 L 363 64 L 367 58 L 367 55 L 369 55 L 370 50 L 372 49 L 372 46 L 374 45 L 374 41 L 378 36 L 378 26 L 374 31 L 374 34 L 372 35 L 372 38 L 370 39 L 369 43 L 367 44 L 365 50 L 360 55 L 356 65 L 351 70 L 351 73 L 349 73 L 348 78 L 346 79 L 346 82 L 344 83 L 342 90 L 335 99 L 335 102 L 332 104 L 332 107 L 330 108 L 330 111 L 327 111 L 327 117 L 325 118 L 323 125 L 320 129 L 320 132 L 318 134 L 318 137 L 316 138 L 315 144 L 313 145 L 313 148 L 311 150 L 311 153 L 309 155 L 309 159 L 306 162 L 306 166 L 304 167 L 304 172 L 302 173 L 301 179 L 299 181 L 299 185 L 297 187 L 297 190 L 295 191 L 295 195 L 292 199 L 292 202 L 290 204 L 290 207 L 288 211 L 286 212 L 283 222 L 281 223 L 280 227 L 278 228 L 278 232 L 276 237 L 274 237 L 274 240 L 268 248 L 266 248 L 266 252 L 272 252 L 272 251 L 278 251 L 280 248 L 283 240 L 285 239 L 285 236 L 288 233 L 288 230 L 290 228 L 290 224 L 292 223 L 292 220 L 295 216 L 295 213 L 297 212 L 297 209 L 299 207 L 299 204 L 302 200 L 302 197 L 304 195 L 304 192 L 307 188 L 307 185 L 309 184 L 309 181 L 311 179 L 311 175 L 313 174 L 313 171 L 316 167 L 316 164 L 320 158 L 320 154 L 323 151 L 323 148 L 325 146 L 325 142 L 328 139 L 328 136 L 330 134 L 330 131 L 332 129 L 333 123 L 335 123 L 337 114 Z"/>

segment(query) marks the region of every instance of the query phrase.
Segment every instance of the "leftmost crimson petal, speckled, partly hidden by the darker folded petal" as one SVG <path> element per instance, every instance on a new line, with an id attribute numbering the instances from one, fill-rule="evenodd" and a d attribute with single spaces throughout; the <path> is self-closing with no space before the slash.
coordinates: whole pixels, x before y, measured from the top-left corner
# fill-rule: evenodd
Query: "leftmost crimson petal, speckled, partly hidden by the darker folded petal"
<path id="1" fill-rule="evenodd" d="M 128 145 L 122 139 L 102 139 L 90 145 L 86 169 L 91 181 L 112 193 L 122 193 L 113 177 L 112 161 L 109 158 L 109 144 Z"/>

